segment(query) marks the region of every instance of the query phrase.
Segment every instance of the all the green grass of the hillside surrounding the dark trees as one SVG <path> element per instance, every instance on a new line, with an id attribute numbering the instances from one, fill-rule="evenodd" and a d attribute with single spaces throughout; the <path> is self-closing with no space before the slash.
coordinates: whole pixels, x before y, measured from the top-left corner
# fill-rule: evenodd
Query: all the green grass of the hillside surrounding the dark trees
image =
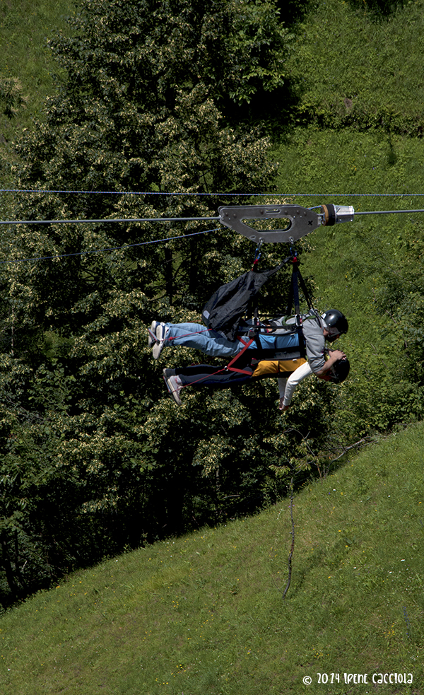
<path id="1" fill-rule="evenodd" d="M 329 0 L 305 18 L 288 62 L 298 85 L 298 126 L 274 151 L 279 191 L 319 194 L 297 199 L 308 206 L 424 206 L 407 195 L 424 191 L 422 10 L 423 2 L 411 3 L 374 23 Z M 70 11 L 47 0 L 1 8 L 0 73 L 18 77 L 27 99 L 16 119 L 0 122 L 3 182 L 10 180 L 11 140 L 31 126 L 52 86 L 45 38 Z M 372 197 L 390 192 L 403 197 L 389 204 Z M 352 377 L 329 423 L 340 421 L 346 438 L 351 426 L 348 443 L 361 428 L 422 416 L 419 393 L 394 383 L 393 366 L 404 353 L 377 298 L 387 279 L 399 276 L 398 260 L 408 291 L 422 276 L 420 253 L 410 254 L 423 244 L 423 218 L 358 218 L 322 229 L 310 238 L 314 253 L 303 257 L 318 305 L 343 308 L 351 323 L 341 346 Z M 293 426 L 301 394 L 288 414 Z M 412 673 L 413 684 L 361 691 L 420 693 L 422 443 L 423 427 L 414 426 L 296 498 L 285 602 L 287 501 L 110 559 L 33 597 L 0 619 L 1 695 L 298 694 L 321 691 L 317 673 L 339 674 L 326 687 L 345 694 L 355 691 L 343 683 L 345 672 Z M 303 684 L 304 676 L 314 685 Z"/>

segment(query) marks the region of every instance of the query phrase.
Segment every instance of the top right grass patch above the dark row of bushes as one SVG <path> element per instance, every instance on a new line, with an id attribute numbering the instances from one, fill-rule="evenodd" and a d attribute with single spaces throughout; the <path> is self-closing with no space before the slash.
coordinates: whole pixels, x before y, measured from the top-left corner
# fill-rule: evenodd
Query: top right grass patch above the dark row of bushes
<path id="1" fill-rule="evenodd" d="M 287 67 L 299 117 L 320 127 L 378 128 L 422 136 L 423 2 L 376 20 L 367 1 L 311 4 Z"/>

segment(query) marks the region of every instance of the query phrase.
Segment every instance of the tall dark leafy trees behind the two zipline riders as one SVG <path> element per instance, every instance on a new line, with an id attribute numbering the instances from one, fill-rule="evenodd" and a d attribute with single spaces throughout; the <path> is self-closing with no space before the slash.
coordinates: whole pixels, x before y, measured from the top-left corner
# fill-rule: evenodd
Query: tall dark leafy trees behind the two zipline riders
<path id="1" fill-rule="evenodd" d="M 86 1 L 71 25 L 52 42 L 66 81 L 18 146 L 19 187 L 52 193 L 17 196 L 16 218 L 216 216 L 269 189 L 269 141 L 225 112 L 283 82 L 271 1 Z M 141 194 L 90 194 L 107 190 Z M 228 230 L 184 238 L 207 228 L 52 223 L 2 238 L 5 602 L 275 495 L 267 457 L 293 448 L 275 390 L 192 392 L 177 409 L 146 346 L 153 318 L 199 320 L 216 287 L 252 263 L 251 243 Z M 170 240 L 140 245 L 160 238 Z M 267 307 L 281 305 L 282 283 Z"/>

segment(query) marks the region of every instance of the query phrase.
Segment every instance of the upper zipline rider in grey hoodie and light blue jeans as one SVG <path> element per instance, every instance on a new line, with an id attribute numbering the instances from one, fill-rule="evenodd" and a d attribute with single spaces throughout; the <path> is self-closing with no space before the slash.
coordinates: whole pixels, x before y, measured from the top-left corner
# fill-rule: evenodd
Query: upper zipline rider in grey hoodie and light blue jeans
<path id="1" fill-rule="evenodd" d="M 257 250 L 258 251 L 258 250 Z M 220 286 L 208 300 L 202 311 L 204 326 L 196 323 L 172 324 L 153 321 L 149 329 L 148 344 L 153 350 L 153 358 L 158 359 L 166 346 L 186 346 L 200 350 L 204 354 L 214 357 L 232 357 L 228 365 L 215 370 L 217 373 L 237 373 L 247 378 L 252 378 L 252 359 L 256 363 L 261 361 L 276 361 L 281 363 L 287 360 L 302 359 L 307 357 L 307 369 L 319 377 L 331 373 L 338 361 L 346 358 L 340 350 L 334 350 L 328 359 L 324 358 L 325 341 L 332 342 L 341 334 L 348 332 L 346 317 L 336 309 L 330 309 L 321 316 L 312 306 L 307 287 L 299 271 L 297 255 L 288 256 L 278 266 L 259 272 L 255 255 L 254 267 L 242 276 Z M 295 316 L 279 316 L 271 321 L 259 322 L 257 308 L 254 310 L 254 320 L 246 321 L 243 315 L 252 308 L 252 301 L 256 297 L 263 284 L 285 266 L 292 263 L 293 272 L 290 282 L 288 297 L 288 310 L 294 303 Z M 301 316 L 299 310 L 298 282 L 302 287 L 305 299 L 309 307 L 309 313 Z M 214 380 L 211 372 L 214 368 L 206 368 L 206 374 L 196 375 L 197 382 L 208 379 Z M 309 371 L 307 372 L 309 373 Z M 305 376 L 307 375 L 305 372 Z M 167 375 L 164 374 L 165 380 Z M 190 378 L 189 374 L 189 378 Z M 170 378 L 178 378 L 181 375 L 170 374 Z M 225 380 L 235 382 L 237 377 L 228 375 L 223 379 L 215 379 L 222 383 Z M 240 381 L 240 378 L 239 378 Z M 192 381 L 193 383 L 194 381 Z M 178 383 L 177 383 L 178 385 Z M 188 383 L 187 383 L 188 385 Z M 171 394 L 177 393 L 174 386 Z M 179 398 L 179 396 L 178 396 Z M 281 406 L 288 407 L 288 403 Z"/>

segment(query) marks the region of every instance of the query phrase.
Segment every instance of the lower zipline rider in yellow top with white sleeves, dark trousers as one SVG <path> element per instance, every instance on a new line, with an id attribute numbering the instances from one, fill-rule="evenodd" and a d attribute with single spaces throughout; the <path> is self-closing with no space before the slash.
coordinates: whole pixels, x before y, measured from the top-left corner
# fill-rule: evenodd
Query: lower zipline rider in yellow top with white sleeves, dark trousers
<path id="1" fill-rule="evenodd" d="M 338 351 L 340 352 L 340 351 Z M 343 354 L 343 353 L 341 353 Z M 339 358 L 333 366 L 318 378 L 334 383 L 341 383 L 349 373 L 349 362 L 346 356 Z M 181 391 L 187 386 L 231 388 L 264 378 L 278 377 L 280 391 L 280 409 L 285 411 L 290 407 L 296 386 L 307 376 L 312 375 L 312 369 L 305 358 L 257 361 L 254 358 L 243 370 L 230 371 L 226 367 L 199 364 L 189 367 L 165 368 L 163 378 L 170 396 L 181 405 Z"/>

